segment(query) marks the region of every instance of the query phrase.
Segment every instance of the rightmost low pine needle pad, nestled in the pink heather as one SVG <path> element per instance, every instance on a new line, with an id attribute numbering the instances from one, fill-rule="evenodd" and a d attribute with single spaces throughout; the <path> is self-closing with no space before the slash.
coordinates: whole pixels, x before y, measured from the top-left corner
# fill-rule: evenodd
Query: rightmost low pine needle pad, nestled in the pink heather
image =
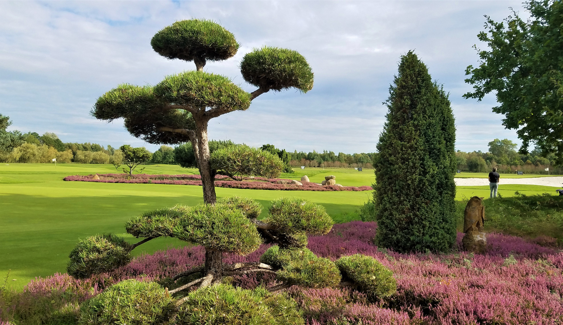
<path id="1" fill-rule="evenodd" d="M 381 299 L 397 291 L 393 272 L 371 256 L 355 254 L 336 260 L 342 281 L 358 284 L 358 290 L 372 299 Z"/>

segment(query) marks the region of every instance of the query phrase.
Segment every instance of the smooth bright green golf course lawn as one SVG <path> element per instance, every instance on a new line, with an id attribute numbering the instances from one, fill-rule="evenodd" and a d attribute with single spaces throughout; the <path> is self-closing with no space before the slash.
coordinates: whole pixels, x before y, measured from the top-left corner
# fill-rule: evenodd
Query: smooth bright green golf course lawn
<path id="1" fill-rule="evenodd" d="M 1 164 L 0 165 L 0 278 L 10 271 L 8 284 L 21 288 L 36 276 L 64 272 L 68 253 L 78 238 L 103 232 L 124 233 L 124 222 L 145 210 L 202 202 L 200 186 L 164 184 L 111 184 L 65 182 L 68 175 L 116 172 L 111 165 L 95 164 Z M 196 170 L 170 165 L 149 165 L 145 173 L 195 173 Z M 309 175 L 320 182 L 335 175 L 342 185 L 370 185 L 373 170 L 306 168 L 289 174 L 293 179 Z M 282 175 L 288 177 L 289 175 Z M 409 189 L 405 189 L 408 191 Z M 503 185 L 499 192 L 511 196 L 515 190 L 526 194 L 550 192 L 555 188 L 536 185 Z M 336 221 L 358 218 L 356 210 L 371 192 L 305 192 L 217 188 L 219 197 L 240 195 L 259 200 L 266 208 L 272 199 L 301 197 L 322 204 Z M 458 199 L 478 195 L 488 197 L 488 186 L 462 186 Z M 265 212 L 263 212 L 265 215 Z M 137 241 L 130 235 L 124 237 Z M 154 252 L 184 244 L 171 238 L 158 238 L 140 247 Z"/>

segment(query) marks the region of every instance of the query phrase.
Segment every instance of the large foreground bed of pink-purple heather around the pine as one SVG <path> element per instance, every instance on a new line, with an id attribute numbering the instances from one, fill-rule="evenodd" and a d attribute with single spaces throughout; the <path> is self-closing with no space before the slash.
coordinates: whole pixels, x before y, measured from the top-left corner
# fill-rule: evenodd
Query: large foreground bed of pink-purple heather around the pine
<path id="1" fill-rule="evenodd" d="M 394 272 L 397 293 L 377 304 L 362 293 L 338 288 L 288 290 L 301 306 L 307 324 L 561 324 L 563 322 L 563 252 L 525 242 L 522 238 L 489 234 L 488 251 L 473 255 L 400 254 L 372 243 L 377 225 L 353 221 L 334 225 L 329 234 L 309 238 L 309 249 L 336 260 L 362 253 Z M 458 243 L 461 242 L 458 234 Z M 258 261 L 262 245 L 248 256 L 226 255 L 225 262 Z M 32 296 L 77 293 L 81 302 L 122 279 L 143 281 L 171 277 L 202 265 L 200 246 L 138 256 L 111 274 L 77 281 L 66 274 L 36 278 L 24 288 Z M 258 275 L 260 276 L 260 275 Z M 271 285 L 273 277 L 235 277 L 235 285 Z M 49 298 L 51 299 L 51 298 Z"/>

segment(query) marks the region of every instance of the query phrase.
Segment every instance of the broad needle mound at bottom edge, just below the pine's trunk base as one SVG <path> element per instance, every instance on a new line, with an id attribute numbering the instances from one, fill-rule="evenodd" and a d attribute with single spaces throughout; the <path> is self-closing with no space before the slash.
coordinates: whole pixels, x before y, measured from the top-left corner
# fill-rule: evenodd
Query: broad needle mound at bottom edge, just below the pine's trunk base
<path id="1" fill-rule="evenodd" d="M 180 305 L 178 325 L 301 325 L 297 302 L 285 293 L 269 293 L 215 284 L 190 292 Z"/>

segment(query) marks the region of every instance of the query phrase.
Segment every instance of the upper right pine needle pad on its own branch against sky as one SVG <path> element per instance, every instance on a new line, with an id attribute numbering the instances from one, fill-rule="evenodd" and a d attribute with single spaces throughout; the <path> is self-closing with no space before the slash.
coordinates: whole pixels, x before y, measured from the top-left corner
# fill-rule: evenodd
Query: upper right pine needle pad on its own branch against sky
<path id="1" fill-rule="evenodd" d="M 256 87 L 282 91 L 297 88 L 302 92 L 313 88 L 314 75 L 305 57 L 287 48 L 255 48 L 240 63 L 244 81 Z"/>

